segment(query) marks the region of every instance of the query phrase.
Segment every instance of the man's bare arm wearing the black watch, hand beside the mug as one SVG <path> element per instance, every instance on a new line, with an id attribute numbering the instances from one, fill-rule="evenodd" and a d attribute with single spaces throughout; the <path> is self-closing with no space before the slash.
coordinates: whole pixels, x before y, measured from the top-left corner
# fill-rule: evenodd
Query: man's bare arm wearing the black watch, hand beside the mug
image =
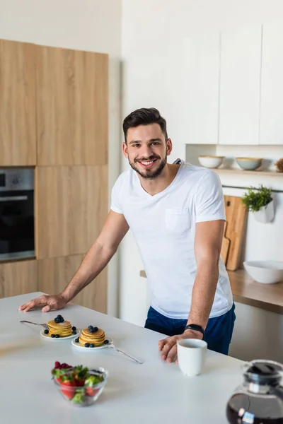
<path id="1" fill-rule="evenodd" d="M 212 309 L 216 285 L 219 277 L 219 256 L 221 252 L 224 220 L 200 222 L 195 230 L 195 259 L 197 275 L 192 289 L 192 305 L 187 324 L 207 326 Z M 182 338 L 202 338 L 200 331 L 187 329 L 180 336 L 172 336 L 159 341 L 161 358 L 173 362 L 177 355 L 177 341 Z"/>

